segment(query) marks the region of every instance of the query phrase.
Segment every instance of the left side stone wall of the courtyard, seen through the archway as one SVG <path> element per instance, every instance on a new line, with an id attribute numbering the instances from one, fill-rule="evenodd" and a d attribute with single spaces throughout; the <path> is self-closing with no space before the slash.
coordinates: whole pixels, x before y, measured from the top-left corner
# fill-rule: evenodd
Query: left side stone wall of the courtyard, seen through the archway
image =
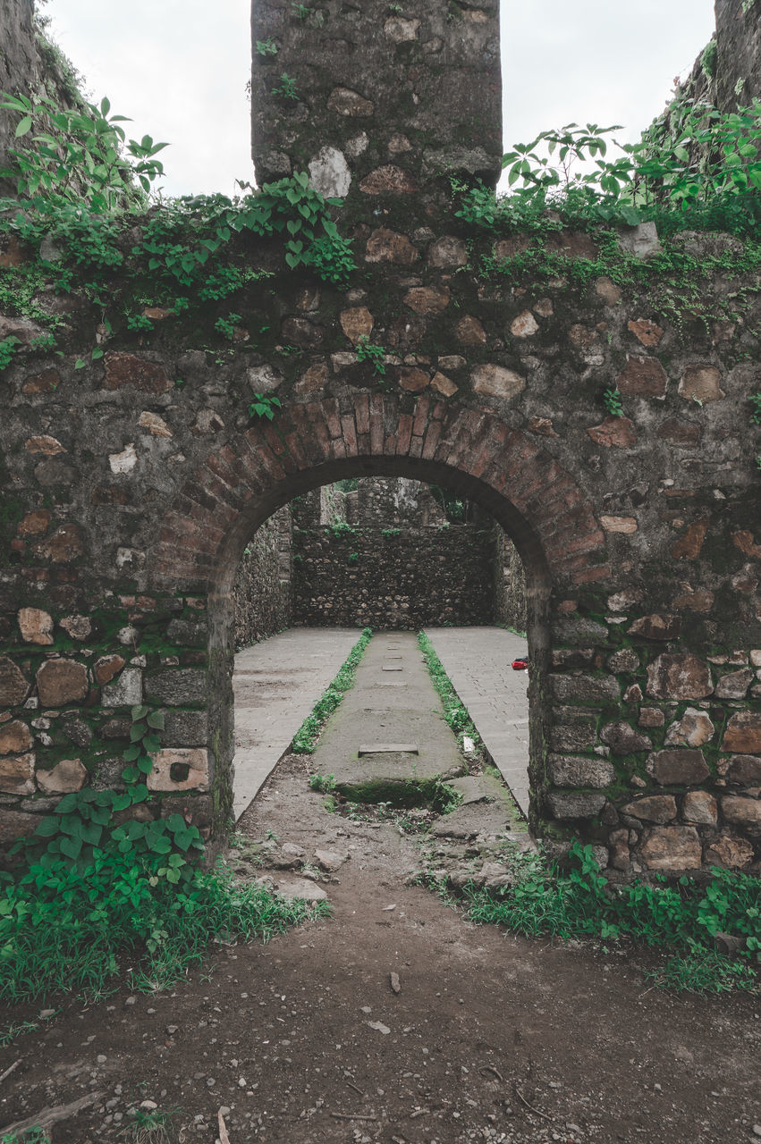
<path id="1" fill-rule="evenodd" d="M 292 622 L 292 522 L 286 506 L 246 545 L 236 575 L 235 643 L 249 648 Z"/>

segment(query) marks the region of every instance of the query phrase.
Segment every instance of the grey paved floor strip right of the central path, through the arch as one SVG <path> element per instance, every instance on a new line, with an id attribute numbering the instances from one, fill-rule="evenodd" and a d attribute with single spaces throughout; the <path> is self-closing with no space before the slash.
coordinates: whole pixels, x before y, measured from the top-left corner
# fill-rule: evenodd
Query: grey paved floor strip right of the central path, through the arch
<path id="1" fill-rule="evenodd" d="M 436 654 L 484 740 L 513 797 L 529 813 L 526 641 L 504 628 L 426 628 Z"/>

